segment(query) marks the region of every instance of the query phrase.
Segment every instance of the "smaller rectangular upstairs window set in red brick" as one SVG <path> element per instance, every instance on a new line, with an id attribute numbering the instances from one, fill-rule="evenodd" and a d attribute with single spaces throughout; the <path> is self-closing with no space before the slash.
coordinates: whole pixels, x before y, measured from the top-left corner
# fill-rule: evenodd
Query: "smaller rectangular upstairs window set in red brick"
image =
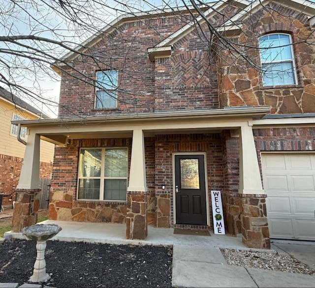
<path id="1" fill-rule="evenodd" d="M 117 107 L 117 71 L 96 72 L 95 108 Z"/>

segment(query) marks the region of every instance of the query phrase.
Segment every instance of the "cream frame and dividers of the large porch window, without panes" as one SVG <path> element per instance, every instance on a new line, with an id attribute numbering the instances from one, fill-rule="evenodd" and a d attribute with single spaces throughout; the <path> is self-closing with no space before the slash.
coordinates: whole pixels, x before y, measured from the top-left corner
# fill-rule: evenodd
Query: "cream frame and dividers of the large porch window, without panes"
<path id="1" fill-rule="evenodd" d="M 83 177 L 80 176 L 80 155 L 81 150 L 88 150 L 88 149 L 99 149 L 101 150 L 101 171 L 99 177 Z M 126 202 L 127 201 L 127 183 L 128 183 L 128 167 L 127 167 L 127 175 L 126 177 L 105 177 L 105 150 L 106 149 L 126 149 L 127 152 L 127 163 L 128 163 L 128 148 L 127 147 L 82 147 L 80 148 L 79 152 L 79 162 L 78 162 L 78 179 L 77 179 L 77 196 L 76 199 L 78 201 L 107 201 L 107 202 Z M 99 187 L 99 199 L 86 199 L 86 198 L 79 198 L 79 181 L 81 179 L 99 179 L 100 180 L 100 187 Z M 104 180 L 106 179 L 124 179 L 126 180 L 126 199 L 125 200 L 112 200 L 112 199 L 104 199 Z"/>

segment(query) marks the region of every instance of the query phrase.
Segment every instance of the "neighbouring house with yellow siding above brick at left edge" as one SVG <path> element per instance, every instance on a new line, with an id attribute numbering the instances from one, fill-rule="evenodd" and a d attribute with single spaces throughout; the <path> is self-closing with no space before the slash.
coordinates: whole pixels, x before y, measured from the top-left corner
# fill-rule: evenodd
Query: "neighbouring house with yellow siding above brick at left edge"
<path id="1" fill-rule="evenodd" d="M 0 118 L 0 193 L 13 192 L 12 199 L 15 200 L 14 191 L 21 173 L 25 144 L 17 141 L 18 126 L 12 125 L 11 121 L 49 117 L 0 87 Z M 22 141 L 28 140 L 26 127 L 21 129 L 20 136 Z M 40 145 L 40 177 L 50 178 L 55 147 L 46 141 L 41 141 Z M 4 197 L 2 204 L 10 205 L 9 197 Z"/>

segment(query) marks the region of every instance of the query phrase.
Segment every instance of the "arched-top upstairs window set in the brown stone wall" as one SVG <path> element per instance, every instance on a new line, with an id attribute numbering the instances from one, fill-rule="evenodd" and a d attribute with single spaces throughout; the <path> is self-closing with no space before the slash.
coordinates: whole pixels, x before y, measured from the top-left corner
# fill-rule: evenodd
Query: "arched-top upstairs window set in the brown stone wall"
<path id="1" fill-rule="evenodd" d="M 269 34 L 259 38 L 263 86 L 297 84 L 291 36 Z"/>

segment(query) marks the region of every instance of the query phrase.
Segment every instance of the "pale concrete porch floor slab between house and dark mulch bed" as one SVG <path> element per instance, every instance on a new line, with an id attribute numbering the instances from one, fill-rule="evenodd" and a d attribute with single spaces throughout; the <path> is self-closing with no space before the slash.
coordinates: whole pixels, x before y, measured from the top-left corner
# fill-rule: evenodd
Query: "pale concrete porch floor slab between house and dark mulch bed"
<path id="1" fill-rule="evenodd" d="M 148 237 L 145 240 L 126 239 L 126 225 L 114 223 L 90 223 L 46 220 L 41 224 L 55 223 L 63 229 L 52 238 L 60 241 L 83 241 L 90 243 L 133 244 L 133 245 L 200 245 L 218 248 L 248 249 L 242 243 L 241 237 L 218 235 L 211 236 L 173 234 L 173 228 L 156 228 L 148 226 Z M 5 239 L 27 239 L 22 232 L 6 232 Z"/>

